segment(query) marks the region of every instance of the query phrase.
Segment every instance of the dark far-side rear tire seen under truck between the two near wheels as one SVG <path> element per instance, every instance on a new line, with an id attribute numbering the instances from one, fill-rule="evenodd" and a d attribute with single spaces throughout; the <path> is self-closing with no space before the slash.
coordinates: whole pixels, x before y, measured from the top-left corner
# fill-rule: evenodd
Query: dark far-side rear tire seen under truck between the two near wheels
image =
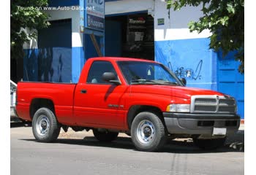
<path id="1" fill-rule="evenodd" d="M 92 131 L 98 141 L 110 142 L 116 140 L 118 136 L 117 132 L 99 131 L 98 129 L 93 129 Z"/>

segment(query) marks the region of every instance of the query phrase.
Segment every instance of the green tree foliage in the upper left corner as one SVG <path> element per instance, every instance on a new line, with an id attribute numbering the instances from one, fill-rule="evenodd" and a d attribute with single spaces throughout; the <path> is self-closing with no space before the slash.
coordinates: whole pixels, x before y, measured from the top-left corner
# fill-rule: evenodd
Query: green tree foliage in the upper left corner
<path id="1" fill-rule="evenodd" d="M 48 27 L 49 16 L 40 9 L 48 5 L 48 0 L 11 0 L 11 58 L 23 58 L 23 44 L 37 36 L 33 29 Z M 33 31 L 26 33 L 28 28 Z"/>

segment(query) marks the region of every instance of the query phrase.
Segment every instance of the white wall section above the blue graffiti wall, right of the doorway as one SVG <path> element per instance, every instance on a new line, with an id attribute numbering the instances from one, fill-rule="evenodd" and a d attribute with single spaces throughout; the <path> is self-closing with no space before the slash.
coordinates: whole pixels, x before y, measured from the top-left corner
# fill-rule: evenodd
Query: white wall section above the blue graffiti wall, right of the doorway
<path id="1" fill-rule="evenodd" d="M 165 41 L 173 39 L 195 39 L 206 38 L 210 36 L 209 31 L 203 31 L 201 34 L 190 32 L 188 23 L 192 20 L 197 21 L 203 15 L 200 7 L 183 7 L 179 11 L 170 9 L 170 18 L 168 17 L 169 9 L 166 8 L 166 2 L 155 0 L 154 3 L 154 36 L 155 41 Z M 165 25 L 158 26 L 157 19 L 164 18 Z"/>

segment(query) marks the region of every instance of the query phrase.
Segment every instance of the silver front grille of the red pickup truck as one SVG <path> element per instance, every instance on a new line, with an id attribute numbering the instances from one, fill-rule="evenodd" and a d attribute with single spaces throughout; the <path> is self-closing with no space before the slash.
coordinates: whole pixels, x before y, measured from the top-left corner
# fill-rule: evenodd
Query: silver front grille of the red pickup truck
<path id="1" fill-rule="evenodd" d="M 235 114 L 236 101 L 230 96 L 192 96 L 191 112 Z"/>

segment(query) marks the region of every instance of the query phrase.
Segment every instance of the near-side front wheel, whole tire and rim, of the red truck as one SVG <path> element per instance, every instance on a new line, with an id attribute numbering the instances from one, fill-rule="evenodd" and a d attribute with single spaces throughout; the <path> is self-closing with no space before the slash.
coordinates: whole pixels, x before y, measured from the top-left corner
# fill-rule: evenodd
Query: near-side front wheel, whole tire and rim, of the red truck
<path id="1" fill-rule="evenodd" d="M 138 150 L 157 151 L 166 141 L 165 126 L 157 114 L 140 112 L 132 121 L 131 136 Z"/>

